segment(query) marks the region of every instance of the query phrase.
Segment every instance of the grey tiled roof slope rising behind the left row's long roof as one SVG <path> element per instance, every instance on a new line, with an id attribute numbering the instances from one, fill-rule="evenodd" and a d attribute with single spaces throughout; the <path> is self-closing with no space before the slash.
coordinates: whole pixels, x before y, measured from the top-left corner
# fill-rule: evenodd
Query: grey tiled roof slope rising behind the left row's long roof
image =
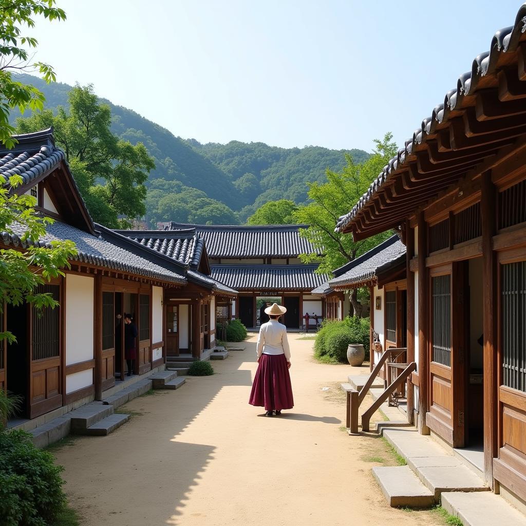
<path id="1" fill-rule="evenodd" d="M 195 228 L 169 232 L 163 230 L 116 230 L 116 232 L 160 254 L 176 259 L 183 265 L 197 268 L 203 255 L 204 238 L 197 235 Z"/>

